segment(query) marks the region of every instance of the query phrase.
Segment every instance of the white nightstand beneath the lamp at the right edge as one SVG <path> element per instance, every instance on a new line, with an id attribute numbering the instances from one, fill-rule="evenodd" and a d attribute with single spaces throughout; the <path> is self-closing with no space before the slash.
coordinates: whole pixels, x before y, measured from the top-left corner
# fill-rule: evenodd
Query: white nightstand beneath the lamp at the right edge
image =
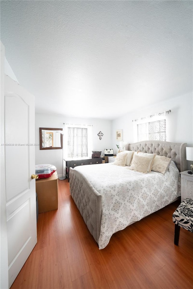
<path id="1" fill-rule="evenodd" d="M 181 172 L 181 201 L 185 198 L 193 200 L 193 174 L 188 174 L 190 170 Z"/>

